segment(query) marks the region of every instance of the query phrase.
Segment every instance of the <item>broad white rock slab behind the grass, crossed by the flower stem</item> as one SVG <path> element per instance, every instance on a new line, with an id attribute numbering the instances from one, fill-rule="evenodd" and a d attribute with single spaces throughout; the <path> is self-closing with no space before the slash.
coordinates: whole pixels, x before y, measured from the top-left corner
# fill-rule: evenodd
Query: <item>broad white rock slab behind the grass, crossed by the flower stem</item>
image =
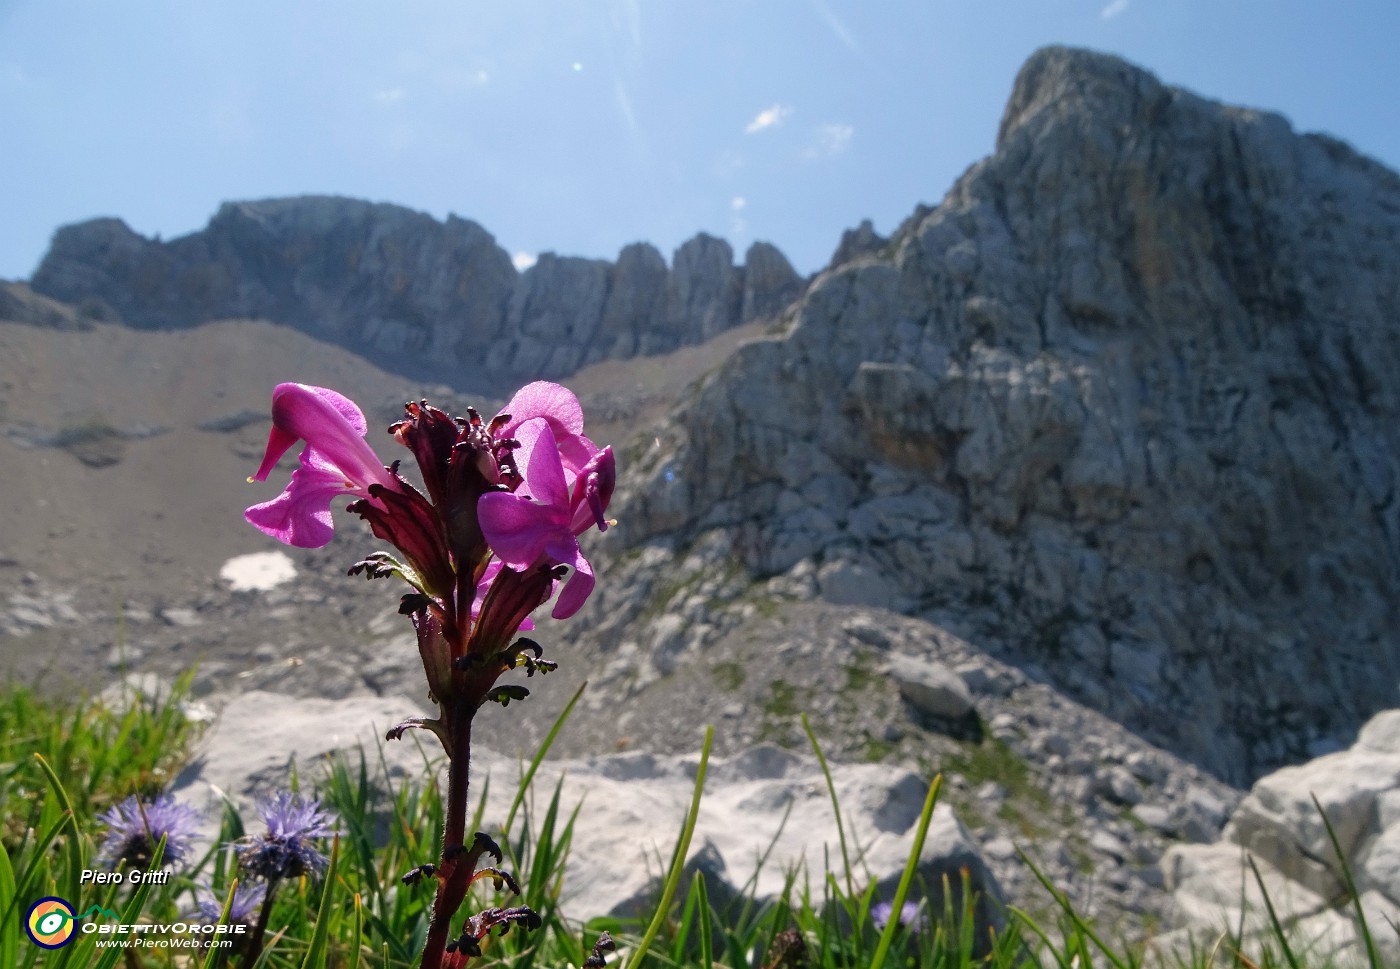
<path id="1" fill-rule="evenodd" d="M 176 781 L 178 797 L 204 809 L 207 819 L 217 818 L 224 794 L 246 808 L 253 794 L 284 788 L 293 762 L 302 783 L 316 779 L 333 751 L 364 746 L 372 763 L 384 731 L 416 713 L 409 702 L 393 697 L 335 702 L 246 693 L 224 707 L 200 742 L 190 767 Z M 427 745 L 433 748 L 431 738 Z M 421 779 L 421 756 L 413 745 L 389 742 L 384 751 L 393 784 Z M 490 779 L 484 818 L 489 823 L 504 821 L 519 763 L 477 746 L 472 770 L 477 790 Z M 568 917 L 644 907 L 659 874 L 657 860 L 669 856 L 685 821 L 694 770 L 693 755 L 545 762 L 535 779 L 536 790 L 552 791 L 561 784 L 566 808 L 581 804 L 561 893 Z M 692 860 L 728 882 L 711 885 L 713 891 L 736 891 L 764 854 L 769 861 L 752 884 L 759 899 L 781 892 L 791 871 L 815 885 L 825 878 L 826 865 L 841 857 L 826 780 L 815 760 L 763 745 L 714 759 L 710 770 Z M 881 765 L 832 765 L 832 779 L 857 867 L 857 888 L 868 884 L 868 872 L 878 893 L 889 898 L 911 849 L 927 779 L 909 772 L 892 776 Z M 920 861 L 921 884 L 937 892 L 946 875 L 956 886 L 963 868 L 983 896 L 979 917 L 984 924 L 1001 924 L 995 878 L 952 809 L 941 804 Z M 930 905 L 942 910 L 941 898 Z"/>

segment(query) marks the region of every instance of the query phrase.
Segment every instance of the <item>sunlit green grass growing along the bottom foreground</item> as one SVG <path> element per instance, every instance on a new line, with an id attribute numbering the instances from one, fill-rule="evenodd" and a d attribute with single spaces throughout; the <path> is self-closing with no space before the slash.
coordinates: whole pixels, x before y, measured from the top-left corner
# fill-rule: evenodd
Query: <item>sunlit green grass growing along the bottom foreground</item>
<path id="1" fill-rule="evenodd" d="M 53 703 L 24 688 L 0 692 L 0 807 L 6 819 L 6 850 L 0 856 L 0 916 L 4 920 L 0 966 L 216 969 L 241 965 L 237 959 L 224 959 L 218 949 L 190 954 L 99 948 L 94 934 L 80 934 L 73 944 L 49 952 L 15 931 L 20 916 L 46 895 L 74 900 L 81 909 L 101 905 L 120 913 L 123 921 L 172 923 L 190 919 L 196 885 L 211 885 L 221 896 L 230 891 L 234 863 L 223 846 L 241 837 L 246 828 L 245 819 L 231 807 L 224 812 L 218 837 L 202 849 L 203 854 L 196 851 L 196 857 L 188 858 L 189 864 L 167 885 L 133 891 L 78 884 L 81 870 L 92 867 L 101 837 L 95 814 L 130 794 L 154 794 L 179 767 L 196 735 L 196 728 L 181 713 L 186 688 L 188 681 L 171 696 L 154 703 L 136 702 L 125 710 L 109 710 L 85 699 Z M 774 699 L 788 716 L 790 700 L 777 695 Z M 559 727 L 556 724 L 550 738 Z M 825 765 L 809 727 L 806 734 Z M 491 937 L 484 956 L 473 965 L 582 966 L 603 930 L 619 944 L 617 952 L 608 956 L 616 969 L 644 965 L 655 969 L 1135 969 L 1142 965 L 1135 951 L 1106 941 L 1043 877 L 1044 892 L 1058 910 L 1053 924 L 1008 909 L 1005 928 L 979 938 L 973 919 L 976 899 L 963 885 L 962 892 L 934 893 L 959 900 L 925 912 L 923 930 L 911 931 L 897 921 L 879 930 L 871 909 L 881 899 L 874 896 L 864 872 L 847 860 L 851 853 L 846 844 L 840 857 L 829 861 L 830 871 L 785 872 L 784 891 L 771 899 L 756 902 L 745 891 L 732 900 L 720 899 L 713 892 L 715 886 L 707 885 L 701 875 L 682 875 L 686 846 L 697 833 L 696 808 L 703 797 L 708 748 L 707 735 L 694 800 L 686 816 L 676 819 L 676 849 L 664 891 L 652 914 L 638 923 L 595 919 L 580 924 L 560 905 L 574 819 L 585 808 L 564 804 L 559 787 L 531 791 L 529 779 L 539 759 L 529 765 L 508 816 L 479 816 L 476 826 L 497 836 L 507 856 L 503 867 L 514 871 L 521 882 L 524 898 L 519 902 L 543 916 L 543 927 L 535 933 L 512 930 L 504 937 Z M 377 780 L 384 776 L 379 751 L 342 759 L 322 777 L 300 779 L 304 787 L 315 786 L 325 805 L 340 818 L 340 833 L 333 847 L 326 846 L 333 861 L 323 879 L 287 882 L 277 893 L 259 968 L 399 969 L 417 963 L 427 934 L 433 885 L 428 879 L 406 886 L 400 875 L 434 856 L 442 823 L 437 755 L 433 748 L 420 749 L 421 774 L 393 790 Z M 540 756 L 543 753 L 542 749 Z M 969 748 L 959 766 L 976 772 L 980 779 L 997 780 L 1008 790 L 1029 783 L 1026 765 L 990 739 Z M 914 877 L 913 863 L 920 854 L 918 843 L 932 814 L 938 783 L 935 774 L 907 846 L 910 863 L 899 892 L 910 899 L 928 896 L 927 886 Z M 840 819 L 841 807 L 830 788 L 827 795 Z M 486 791 L 479 797 L 479 804 L 484 805 Z M 479 807 L 479 815 L 482 811 Z M 756 884 L 757 875 L 755 871 L 749 886 Z M 498 903 L 505 900 L 489 882 L 482 884 L 472 900 L 477 907 Z M 1392 928 L 1369 927 L 1368 933 L 1373 931 Z M 1372 969 L 1380 969 L 1379 958 L 1371 947 L 1368 963 Z M 1301 948 L 1277 920 L 1273 934 L 1263 940 L 1245 941 L 1226 933 L 1218 944 L 1187 956 L 1182 966 L 1324 969 L 1301 955 Z"/>

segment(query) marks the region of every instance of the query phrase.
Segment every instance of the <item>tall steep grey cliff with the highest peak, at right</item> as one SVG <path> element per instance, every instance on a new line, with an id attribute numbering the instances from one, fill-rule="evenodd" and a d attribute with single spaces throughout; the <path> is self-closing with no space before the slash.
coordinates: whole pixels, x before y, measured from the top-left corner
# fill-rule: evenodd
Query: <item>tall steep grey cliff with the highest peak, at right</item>
<path id="1" fill-rule="evenodd" d="M 1054 48 L 841 249 L 629 455 L 651 581 L 931 619 L 1235 783 L 1397 703 L 1400 178 Z"/>

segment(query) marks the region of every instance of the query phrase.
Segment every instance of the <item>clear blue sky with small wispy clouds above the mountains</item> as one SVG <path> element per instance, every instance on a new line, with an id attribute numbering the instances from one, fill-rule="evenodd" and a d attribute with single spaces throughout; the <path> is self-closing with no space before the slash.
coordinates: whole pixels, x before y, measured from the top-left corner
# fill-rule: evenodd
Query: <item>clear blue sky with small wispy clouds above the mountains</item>
<path id="1" fill-rule="evenodd" d="M 0 0 L 0 279 L 220 202 L 456 213 L 519 265 L 707 231 L 801 272 L 988 154 L 1037 46 L 1126 56 L 1400 167 L 1396 0 Z"/>

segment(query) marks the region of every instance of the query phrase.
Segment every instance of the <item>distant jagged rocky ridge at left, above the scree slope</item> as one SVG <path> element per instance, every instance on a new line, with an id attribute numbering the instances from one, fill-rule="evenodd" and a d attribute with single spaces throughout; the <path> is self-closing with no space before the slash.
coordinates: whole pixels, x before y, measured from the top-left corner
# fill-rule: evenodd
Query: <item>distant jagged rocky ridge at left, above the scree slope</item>
<path id="1" fill-rule="evenodd" d="M 456 216 L 295 197 L 227 203 L 169 242 L 118 218 L 67 225 L 31 284 L 133 326 L 269 319 L 419 372 L 504 384 L 699 343 L 776 315 L 802 280 L 771 245 L 735 266 L 729 244 L 704 234 L 669 267 L 637 244 L 616 262 L 545 253 L 518 273 Z"/>

